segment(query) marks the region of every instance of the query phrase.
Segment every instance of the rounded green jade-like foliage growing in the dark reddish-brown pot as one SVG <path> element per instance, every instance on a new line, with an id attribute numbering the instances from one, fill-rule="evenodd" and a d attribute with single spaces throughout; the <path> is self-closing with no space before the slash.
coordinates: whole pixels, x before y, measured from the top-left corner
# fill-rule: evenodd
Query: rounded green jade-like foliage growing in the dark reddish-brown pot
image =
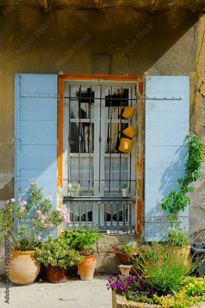
<path id="1" fill-rule="evenodd" d="M 68 239 L 64 237 L 54 239 L 53 236 L 49 236 L 47 242 L 40 243 L 34 255 L 45 267 L 53 265 L 65 269 L 67 265 L 73 266 L 82 263 L 85 259 L 78 251 L 70 249 Z"/>

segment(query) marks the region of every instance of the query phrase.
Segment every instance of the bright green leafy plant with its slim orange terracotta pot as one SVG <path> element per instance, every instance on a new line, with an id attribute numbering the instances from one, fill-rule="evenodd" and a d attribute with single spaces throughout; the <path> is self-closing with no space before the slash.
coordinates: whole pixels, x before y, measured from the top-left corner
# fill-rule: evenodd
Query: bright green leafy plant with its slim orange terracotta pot
<path id="1" fill-rule="evenodd" d="M 77 264 L 81 280 L 87 281 L 93 279 L 96 267 L 93 247 L 101 236 L 101 233 L 98 233 L 95 228 L 89 231 L 89 227 L 87 226 L 75 228 L 74 232 L 65 229 L 64 233 L 60 235 L 60 237 L 68 239 L 71 248 L 78 250 L 81 256 L 85 257 L 83 262 Z"/>

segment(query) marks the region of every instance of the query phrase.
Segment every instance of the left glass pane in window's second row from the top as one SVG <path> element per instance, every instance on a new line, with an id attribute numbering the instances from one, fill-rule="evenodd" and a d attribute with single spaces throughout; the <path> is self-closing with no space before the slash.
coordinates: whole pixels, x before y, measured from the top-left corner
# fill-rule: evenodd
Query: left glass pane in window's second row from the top
<path id="1" fill-rule="evenodd" d="M 70 123 L 70 153 L 78 153 L 78 122 Z M 81 123 L 81 153 L 89 153 L 88 137 L 91 135 L 90 153 L 94 153 L 94 123 L 91 123 L 89 132 L 89 123 Z"/>

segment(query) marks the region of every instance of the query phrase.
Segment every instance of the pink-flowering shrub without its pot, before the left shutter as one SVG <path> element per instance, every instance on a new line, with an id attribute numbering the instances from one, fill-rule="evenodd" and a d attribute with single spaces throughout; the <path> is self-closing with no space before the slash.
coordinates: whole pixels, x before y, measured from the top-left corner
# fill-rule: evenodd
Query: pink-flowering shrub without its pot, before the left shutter
<path id="1" fill-rule="evenodd" d="M 12 247 L 21 251 L 34 250 L 57 225 L 70 221 L 67 209 L 53 209 L 52 196 L 43 200 L 43 187 L 38 188 L 34 179 L 30 182 L 27 201 L 19 197 L 15 204 L 12 198 L 0 211 L 0 243 L 9 235 Z"/>

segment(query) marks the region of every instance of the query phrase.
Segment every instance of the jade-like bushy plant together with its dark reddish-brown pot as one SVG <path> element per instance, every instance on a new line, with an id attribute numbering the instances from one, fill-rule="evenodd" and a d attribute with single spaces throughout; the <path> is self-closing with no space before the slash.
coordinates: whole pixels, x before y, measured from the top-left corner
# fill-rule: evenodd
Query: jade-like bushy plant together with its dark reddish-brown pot
<path id="1" fill-rule="evenodd" d="M 54 239 L 53 236 L 49 236 L 47 242 L 40 243 L 34 255 L 37 261 L 45 265 L 46 278 L 52 283 L 63 282 L 66 278 L 66 266 L 76 265 L 85 259 L 77 250 L 70 249 L 68 239 Z"/>

